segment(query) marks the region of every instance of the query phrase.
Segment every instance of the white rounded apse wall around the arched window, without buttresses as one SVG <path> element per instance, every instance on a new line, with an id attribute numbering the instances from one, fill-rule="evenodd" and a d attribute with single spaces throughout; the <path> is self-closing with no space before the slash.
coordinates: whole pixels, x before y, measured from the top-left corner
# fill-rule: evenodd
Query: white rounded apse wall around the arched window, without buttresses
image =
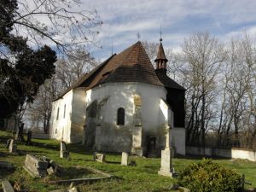
<path id="1" fill-rule="evenodd" d="M 160 119 L 159 116 L 160 98 L 166 98 L 164 87 L 143 83 L 111 83 L 86 92 L 87 106 L 108 97 L 102 112 L 102 145 L 108 145 L 109 150 L 131 148 L 135 95 L 141 96 L 142 100 L 143 135 L 157 135 L 159 126 L 165 123 L 164 118 Z M 118 108 L 125 108 L 125 125 L 116 125 Z"/>

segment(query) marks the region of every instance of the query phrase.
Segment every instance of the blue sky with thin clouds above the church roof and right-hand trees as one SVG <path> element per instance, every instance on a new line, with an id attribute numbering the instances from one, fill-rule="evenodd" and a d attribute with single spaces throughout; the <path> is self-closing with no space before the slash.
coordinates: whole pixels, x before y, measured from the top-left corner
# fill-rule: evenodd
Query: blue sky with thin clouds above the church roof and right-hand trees
<path id="1" fill-rule="evenodd" d="M 184 38 L 209 32 L 220 41 L 239 38 L 243 32 L 256 35 L 255 0 L 81 0 L 81 9 L 96 9 L 103 24 L 91 55 L 104 60 L 140 41 L 179 50 Z M 112 43 L 113 42 L 113 43 Z"/>

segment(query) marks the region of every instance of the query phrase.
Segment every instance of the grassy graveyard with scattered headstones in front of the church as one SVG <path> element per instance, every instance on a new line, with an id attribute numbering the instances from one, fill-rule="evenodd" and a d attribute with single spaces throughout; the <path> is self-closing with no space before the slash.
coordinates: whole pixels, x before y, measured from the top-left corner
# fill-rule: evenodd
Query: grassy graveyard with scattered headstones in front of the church
<path id="1" fill-rule="evenodd" d="M 201 162 L 201 157 L 196 156 L 176 156 L 170 160 L 172 152 L 168 146 L 162 150 L 164 159 L 145 158 L 126 152 L 93 152 L 84 150 L 82 144 L 48 139 L 32 139 L 32 145 L 27 145 L 9 140 L 11 136 L 7 132 L 0 134 L 3 191 L 189 191 L 176 185 L 177 177 L 173 173 L 178 174 L 185 166 Z M 239 175 L 245 174 L 249 181 L 244 183 L 245 191 L 253 191 L 256 186 L 255 162 L 212 161 Z"/>

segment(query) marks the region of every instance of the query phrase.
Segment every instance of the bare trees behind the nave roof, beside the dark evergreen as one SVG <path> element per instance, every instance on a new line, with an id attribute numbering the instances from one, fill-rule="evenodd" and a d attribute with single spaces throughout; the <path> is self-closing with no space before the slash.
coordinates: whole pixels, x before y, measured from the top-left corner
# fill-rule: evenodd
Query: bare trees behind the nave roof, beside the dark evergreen
<path id="1" fill-rule="evenodd" d="M 55 76 L 40 87 L 35 101 L 26 110 L 26 118 L 31 126 L 43 127 L 44 132 L 47 133 L 51 116 L 51 102 L 84 73 L 89 73 L 94 66 L 96 66 L 94 58 L 84 51 L 80 51 L 79 55 L 74 55 L 69 59 L 62 58 L 57 61 Z"/>

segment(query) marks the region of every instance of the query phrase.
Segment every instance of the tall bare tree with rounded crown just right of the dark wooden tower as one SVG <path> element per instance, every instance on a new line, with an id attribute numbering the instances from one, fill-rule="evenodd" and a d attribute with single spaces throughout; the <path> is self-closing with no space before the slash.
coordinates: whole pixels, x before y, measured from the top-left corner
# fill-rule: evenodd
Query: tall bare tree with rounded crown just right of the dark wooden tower
<path id="1" fill-rule="evenodd" d="M 186 128 L 189 143 L 205 146 L 205 136 L 214 118 L 216 81 L 220 64 L 224 61 L 223 45 L 208 33 L 198 33 L 185 39 L 183 50 L 183 75 L 187 81 Z"/>

